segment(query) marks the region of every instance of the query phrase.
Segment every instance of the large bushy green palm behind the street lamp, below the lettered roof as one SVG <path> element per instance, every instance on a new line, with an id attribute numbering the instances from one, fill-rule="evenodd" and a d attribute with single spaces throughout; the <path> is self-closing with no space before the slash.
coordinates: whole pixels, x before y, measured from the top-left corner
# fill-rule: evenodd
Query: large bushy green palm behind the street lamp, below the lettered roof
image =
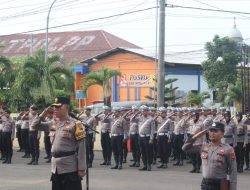
<path id="1" fill-rule="evenodd" d="M 40 49 L 34 56 L 26 58 L 16 79 L 17 89 L 24 90 L 23 93 L 26 93 L 27 97 L 43 97 L 49 100 L 55 96 L 55 89 L 63 88 L 63 83 L 64 86 L 68 85 L 65 82 L 65 79 L 68 79 L 67 81 L 71 82 L 71 88 L 61 90 L 72 92 L 73 74 L 61 64 L 60 55 L 49 56 L 47 62 L 44 62 L 44 55 L 45 51 Z"/>

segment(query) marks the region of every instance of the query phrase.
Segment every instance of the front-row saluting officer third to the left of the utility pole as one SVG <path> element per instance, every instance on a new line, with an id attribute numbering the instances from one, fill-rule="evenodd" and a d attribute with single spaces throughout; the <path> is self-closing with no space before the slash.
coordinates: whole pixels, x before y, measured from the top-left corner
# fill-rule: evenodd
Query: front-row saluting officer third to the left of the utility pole
<path id="1" fill-rule="evenodd" d="M 115 165 L 111 169 L 122 169 L 123 142 L 127 141 L 126 120 L 120 115 L 120 108 L 114 108 L 114 116 L 111 119 L 111 147 Z"/>

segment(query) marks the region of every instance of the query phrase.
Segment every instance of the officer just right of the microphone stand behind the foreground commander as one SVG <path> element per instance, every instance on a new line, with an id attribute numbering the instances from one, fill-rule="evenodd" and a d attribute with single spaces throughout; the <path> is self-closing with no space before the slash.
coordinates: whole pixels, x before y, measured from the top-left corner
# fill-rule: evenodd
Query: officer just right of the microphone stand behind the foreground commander
<path id="1" fill-rule="evenodd" d="M 85 115 L 81 117 L 81 120 L 87 124 L 87 161 L 88 167 L 92 168 L 93 160 L 94 160 L 94 142 L 96 137 L 96 126 L 97 120 L 94 116 L 91 115 L 91 108 L 85 107 L 84 108 Z"/>

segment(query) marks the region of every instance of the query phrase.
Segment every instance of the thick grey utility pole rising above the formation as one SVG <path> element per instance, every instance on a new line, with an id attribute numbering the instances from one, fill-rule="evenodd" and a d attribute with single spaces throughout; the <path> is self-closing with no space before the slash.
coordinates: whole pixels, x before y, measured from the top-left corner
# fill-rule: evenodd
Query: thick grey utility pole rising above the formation
<path id="1" fill-rule="evenodd" d="M 157 66 L 157 107 L 164 105 L 165 81 L 165 0 L 160 0 L 159 53 Z"/>

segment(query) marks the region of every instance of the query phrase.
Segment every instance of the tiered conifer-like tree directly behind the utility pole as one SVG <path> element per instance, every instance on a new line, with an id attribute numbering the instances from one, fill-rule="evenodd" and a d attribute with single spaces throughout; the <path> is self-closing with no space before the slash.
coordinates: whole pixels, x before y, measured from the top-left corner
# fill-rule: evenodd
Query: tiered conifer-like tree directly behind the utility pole
<path id="1" fill-rule="evenodd" d="M 157 82 L 156 79 L 153 79 L 155 82 Z M 164 106 L 177 106 L 175 103 L 175 100 L 179 99 L 180 97 L 177 97 L 175 95 L 175 91 L 178 89 L 178 87 L 173 87 L 173 83 L 177 81 L 178 79 L 165 79 L 164 81 Z M 151 100 L 151 101 L 156 101 L 157 96 L 157 88 L 155 87 L 150 87 L 155 92 L 155 97 L 151 97 L 149 95 L 145 96 L 146 99 Z"/>

